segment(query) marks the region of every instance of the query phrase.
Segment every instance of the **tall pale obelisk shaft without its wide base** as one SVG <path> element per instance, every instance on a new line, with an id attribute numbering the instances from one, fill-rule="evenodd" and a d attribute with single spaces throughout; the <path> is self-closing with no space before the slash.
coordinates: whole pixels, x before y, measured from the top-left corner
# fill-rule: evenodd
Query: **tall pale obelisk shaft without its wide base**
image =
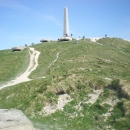
<path id="1" fill-rule="evenodd" d="M 68 19 L 68 8 L 64 8 L 64 37 L 69 37 L 69 19 Z"/>

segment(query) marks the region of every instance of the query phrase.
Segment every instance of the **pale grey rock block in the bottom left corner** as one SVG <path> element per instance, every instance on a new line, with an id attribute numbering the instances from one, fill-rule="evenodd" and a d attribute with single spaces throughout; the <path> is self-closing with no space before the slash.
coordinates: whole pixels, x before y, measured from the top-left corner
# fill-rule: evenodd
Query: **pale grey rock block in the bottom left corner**
<path id="1" fill-rule="evenodd" d="M 35 130 L 22 111 L 0 109 L 0 130 Z"/>

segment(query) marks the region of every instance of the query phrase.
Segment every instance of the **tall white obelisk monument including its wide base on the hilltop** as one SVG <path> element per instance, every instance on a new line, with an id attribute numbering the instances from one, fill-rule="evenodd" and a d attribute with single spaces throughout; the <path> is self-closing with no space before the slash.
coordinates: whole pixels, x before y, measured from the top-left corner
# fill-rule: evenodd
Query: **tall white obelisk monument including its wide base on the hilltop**
<path id="1" fill-rule="evenodd" d="M 72 38 L 69 36 L 69 19 L 68 19 L 68 8 L 64 8 L 64 30 L 63 37 L 59 39 L 60 41 L 69 41 Z"/>

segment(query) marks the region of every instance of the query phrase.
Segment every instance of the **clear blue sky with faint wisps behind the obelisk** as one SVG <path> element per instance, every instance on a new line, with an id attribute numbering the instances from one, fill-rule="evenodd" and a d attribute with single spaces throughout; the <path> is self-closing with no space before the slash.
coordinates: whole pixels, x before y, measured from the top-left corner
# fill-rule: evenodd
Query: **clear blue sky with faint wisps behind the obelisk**
<path id="1" fill-rule="evenodd" d="M 0 0 L 0 50 L 62 37 L 64 7 L 75 38 L 130 39 L 130 0 Z"/>

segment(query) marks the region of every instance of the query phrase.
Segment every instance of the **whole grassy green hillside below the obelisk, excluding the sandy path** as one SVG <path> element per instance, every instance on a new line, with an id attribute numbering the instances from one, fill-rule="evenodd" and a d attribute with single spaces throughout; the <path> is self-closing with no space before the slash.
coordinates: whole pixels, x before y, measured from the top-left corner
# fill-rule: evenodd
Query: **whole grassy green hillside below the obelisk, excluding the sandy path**
<path id="1" fill-rule="evenodd" d="M 41 52 L 39 66 L 30 75 L 34 80 L 1 90 L 0 108 L 22 110 L 41 130 L 130 129 L 130 42 L 102 38 L 33 47 Z M 8 81 L 27 68 L 28 49 L 0 51 L 1 60 L 0 82 Z M 87 103 L 98 90 L 98 99 Z M 63 111 L 45 115 L 46 104 L 55 107 L 64 94 L 72 101 Z"/>

